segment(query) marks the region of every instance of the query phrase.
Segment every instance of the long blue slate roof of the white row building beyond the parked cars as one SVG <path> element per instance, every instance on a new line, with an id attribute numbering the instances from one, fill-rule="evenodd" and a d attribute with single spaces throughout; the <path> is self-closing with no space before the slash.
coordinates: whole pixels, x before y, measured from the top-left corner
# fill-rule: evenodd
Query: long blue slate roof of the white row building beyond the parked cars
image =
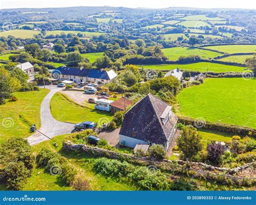
<path id="1" fill-rule="evenodd" d="M 52 71 L 52 73 L 61 73 L 62 75 L 75 75 L 81 77 L 91 77 L 95 79 L 112 80 L 117 74 L 113 70 L 100 70 L 100 69 L 80 69 L 73 67 L 60 66 Z"/>

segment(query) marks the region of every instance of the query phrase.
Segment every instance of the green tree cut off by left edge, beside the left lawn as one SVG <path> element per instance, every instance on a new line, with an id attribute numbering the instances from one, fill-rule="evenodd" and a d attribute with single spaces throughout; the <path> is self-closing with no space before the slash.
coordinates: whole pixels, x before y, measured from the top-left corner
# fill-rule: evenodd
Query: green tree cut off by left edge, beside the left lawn
<path id="1" fill-rule="evenodd" d="M 2 102 L 4 101 L 4 96 L 18 91 L 21 87 L 21 83 L 16 77 L 12 77 L 8 70 L 0 67 L 0 95 L 2 96 Z"/>

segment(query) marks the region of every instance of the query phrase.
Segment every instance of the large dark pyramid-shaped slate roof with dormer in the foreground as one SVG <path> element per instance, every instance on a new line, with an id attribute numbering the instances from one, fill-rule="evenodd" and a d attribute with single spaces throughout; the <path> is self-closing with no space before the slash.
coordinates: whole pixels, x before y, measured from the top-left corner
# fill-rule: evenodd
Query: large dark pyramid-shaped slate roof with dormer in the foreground
<path id="1" fill-rule="evenodd" d="M 119 135 L 164 145 L 178 121 L 172 111 L 166 124 L 160 118 L 170 107 L 156 96 L 148 94 L 126 112 Z"/>

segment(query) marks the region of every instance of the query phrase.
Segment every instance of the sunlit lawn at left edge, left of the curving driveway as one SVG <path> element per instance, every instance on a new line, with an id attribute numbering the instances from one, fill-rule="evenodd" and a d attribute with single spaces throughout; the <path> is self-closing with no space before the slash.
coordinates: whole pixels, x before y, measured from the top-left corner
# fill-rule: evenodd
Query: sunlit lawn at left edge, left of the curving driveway
<path id="1" fill-rule="evenodd" d="M 9 137 L 30 136 L 29 128 L 33 123 L 39 128 L 41 102 L 48 93 L 47 89 L 18 92 L 14 93 L 18 101 L 0 105 L 0 143 Z"/>

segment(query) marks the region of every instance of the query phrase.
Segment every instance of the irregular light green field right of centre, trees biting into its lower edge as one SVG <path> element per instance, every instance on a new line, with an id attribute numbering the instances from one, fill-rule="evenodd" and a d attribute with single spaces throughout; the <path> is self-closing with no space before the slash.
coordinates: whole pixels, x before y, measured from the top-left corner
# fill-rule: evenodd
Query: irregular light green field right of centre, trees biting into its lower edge
<path id="1" fill-rule="evenodd" d="M 199 48 L 189 48 L 189 47 L 173 47 L 164 48 L 161 51 L 165 54 L 169 60 L 178 60 L 181 55 L 199 55 L 203 59 L 215 58 L 221 55 L 217 52 L 201 50 Z"/>

